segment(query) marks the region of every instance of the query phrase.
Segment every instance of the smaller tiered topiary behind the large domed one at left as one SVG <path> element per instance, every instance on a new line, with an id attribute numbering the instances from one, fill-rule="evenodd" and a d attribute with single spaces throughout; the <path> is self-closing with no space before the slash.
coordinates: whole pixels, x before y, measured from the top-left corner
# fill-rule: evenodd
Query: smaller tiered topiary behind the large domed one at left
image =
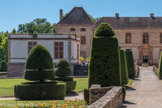
<path id="1" fill-rule="evenodd" d="M 63 81 L 66 83 L 66 92 L 70 92 L 75 89 L 76 81 L 73 81 L 70 64 L 67 60 L 61 59 L 57 63 L 55 69 L 56 80 Z"/>

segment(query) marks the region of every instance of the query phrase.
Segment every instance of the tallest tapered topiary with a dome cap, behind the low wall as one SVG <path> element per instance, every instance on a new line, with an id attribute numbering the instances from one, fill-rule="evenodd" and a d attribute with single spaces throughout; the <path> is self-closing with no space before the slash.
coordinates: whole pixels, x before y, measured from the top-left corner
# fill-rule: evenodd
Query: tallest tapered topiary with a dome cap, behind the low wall
<path id="1" fill-rule="evenodd" d="M 101 26 L 101 27 L 100 27 Z M 100 28 L 108 27 L 101 24 L 96 32 L 102 36 L 95 36 L 92 42 L 91 58 L 89 65 L 89 87 L 92 84 L 100 84 L 102 87 L 121 85 L 120 52 L 118 40 L 112 33 L 100 32 Z M 107 30 L 105 28 L 105 30 Z M 99 35 L 99 33 L 96 33 Z M 108 36 L 110 35 L 110 36 Z"/>

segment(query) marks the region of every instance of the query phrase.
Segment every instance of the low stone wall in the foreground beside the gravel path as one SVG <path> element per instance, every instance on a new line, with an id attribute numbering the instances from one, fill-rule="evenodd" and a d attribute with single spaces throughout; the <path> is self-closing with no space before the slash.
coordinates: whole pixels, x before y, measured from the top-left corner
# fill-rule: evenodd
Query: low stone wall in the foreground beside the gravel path
<path id="1" fill-rule="evenodd" d="M 90 89 L 88 108 L 119 108 L 122 106 L 122 87 L 103 87 Z"/>

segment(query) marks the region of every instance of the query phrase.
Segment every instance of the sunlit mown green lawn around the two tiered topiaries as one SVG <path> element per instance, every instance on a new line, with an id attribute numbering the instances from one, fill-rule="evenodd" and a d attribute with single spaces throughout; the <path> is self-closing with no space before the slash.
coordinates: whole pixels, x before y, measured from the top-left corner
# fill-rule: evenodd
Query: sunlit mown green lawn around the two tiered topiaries
<path id="1" fill-rule="evenodd" d="M 77 81 L 75 91 L 83 91 L 88 88 L 88 78 L 74 78 Z M 28 82 L 24 79 L 0 79 L 0 97 L 14 96 L 14 85 Z"/>

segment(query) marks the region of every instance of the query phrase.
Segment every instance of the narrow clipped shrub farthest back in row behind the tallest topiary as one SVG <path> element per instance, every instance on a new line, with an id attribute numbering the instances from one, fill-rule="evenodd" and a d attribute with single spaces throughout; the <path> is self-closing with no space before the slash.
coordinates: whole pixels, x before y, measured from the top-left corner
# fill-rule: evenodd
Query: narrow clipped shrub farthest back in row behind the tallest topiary
<path id="1" fill-rule="evenodd" d="M 126 50 L 126 60 L 127 60 L 127 68 L 128 68 L 128 76 L 130 79 L 134 79 L 136 77 L 136 72 L 134 68 L 134 60 L 132 51 Z"/>

